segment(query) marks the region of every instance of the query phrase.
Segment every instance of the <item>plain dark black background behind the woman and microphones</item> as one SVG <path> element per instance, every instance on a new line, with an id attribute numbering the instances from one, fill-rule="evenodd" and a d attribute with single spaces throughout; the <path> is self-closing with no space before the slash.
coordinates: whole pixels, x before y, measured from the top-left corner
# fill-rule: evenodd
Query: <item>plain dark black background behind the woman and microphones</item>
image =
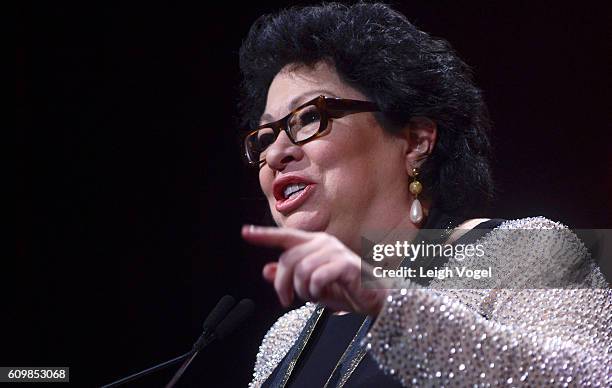
<path id="1" fill-rule="evenodd" d="M 226 4 L 20 3 L 20 265 L 5 307 L 17 328 L 4 330 L 2 365 L 70 366 L 78 385 L 107 383 L 187 351 L 231 293 L 255 300 L 255 318 L 203 352 L 183 385 L 249 381 L 282 310 L 260 277 L 268 253 L 239 238 L 266 203 L 236 142 L 237 52 L 257 16 L 288 2 Z M 486 93 L 499 195 L 485 216 L 612 227 L 607 10 L 395 5 L 448 39 Z"/>

